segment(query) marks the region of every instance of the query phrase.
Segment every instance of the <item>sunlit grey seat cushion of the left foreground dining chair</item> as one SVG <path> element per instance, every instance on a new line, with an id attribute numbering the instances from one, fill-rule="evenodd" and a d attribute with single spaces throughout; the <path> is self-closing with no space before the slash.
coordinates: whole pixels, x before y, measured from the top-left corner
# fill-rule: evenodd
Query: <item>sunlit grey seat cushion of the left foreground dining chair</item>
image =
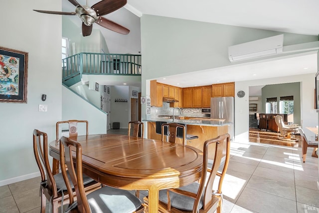
<path id="1" fill-rule="evenodd" d="M 87 199 L 92 213 L 133 213 L 142 205 L 129 191 L 108 186 L 90 193 Z"/>

